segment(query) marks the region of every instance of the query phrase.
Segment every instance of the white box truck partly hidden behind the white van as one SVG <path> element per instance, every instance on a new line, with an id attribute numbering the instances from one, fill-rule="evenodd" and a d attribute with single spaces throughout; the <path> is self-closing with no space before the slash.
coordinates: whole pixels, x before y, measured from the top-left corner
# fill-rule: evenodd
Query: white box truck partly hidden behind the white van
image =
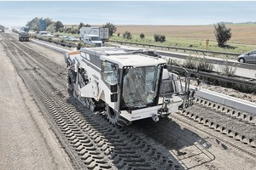
<path id="1" fill-rule="evenodd" d="M 84 36 L 97 36 L 100 37 L 102 42 L 108 42 L 109 30 L 103 27 L 81 27 L 79 38 L 82 40 Z"/>

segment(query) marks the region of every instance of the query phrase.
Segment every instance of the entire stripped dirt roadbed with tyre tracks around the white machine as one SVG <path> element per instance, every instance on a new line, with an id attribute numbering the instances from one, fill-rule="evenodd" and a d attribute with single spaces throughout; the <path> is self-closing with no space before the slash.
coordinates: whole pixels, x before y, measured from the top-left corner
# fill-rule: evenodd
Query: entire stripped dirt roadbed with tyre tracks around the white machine
<path id="1" fill-rule="evenodd" d="M 103 112 L 92 112 L 67 94 L 63 54 L 3 33 L 0 60 L 0 169 L 256 167 L 253 133 L 244 134 L 248 142 L 241 141 L 177 113 L 156 123 L 114 127 Z M 227 118 L 200 103 L 187 111 Z M 214 117 L 207 116 L 207 121 L 217 122 Z M 228 119 L 242 135 L 236 126 L 240 118 Z M 255 129 L 254 117 L 242 121 Z"/>

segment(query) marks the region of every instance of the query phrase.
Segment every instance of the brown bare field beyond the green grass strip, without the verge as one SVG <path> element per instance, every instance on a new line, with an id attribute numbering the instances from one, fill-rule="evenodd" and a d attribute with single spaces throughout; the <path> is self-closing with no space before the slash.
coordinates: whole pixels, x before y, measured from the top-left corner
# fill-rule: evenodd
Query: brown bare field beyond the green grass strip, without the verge
<path id="1" fill-rule="evenodd" d="M 256 45 L 256 24 L 226 25 L 231 28 L 232 37 L 229 42 Z M 192 40 L 215 41 L 214 26 L 116 26 L 116 33 L 130 31 L 131 34 L 153 36 L 160 33 L 168 38 L 188 38 Z"/>

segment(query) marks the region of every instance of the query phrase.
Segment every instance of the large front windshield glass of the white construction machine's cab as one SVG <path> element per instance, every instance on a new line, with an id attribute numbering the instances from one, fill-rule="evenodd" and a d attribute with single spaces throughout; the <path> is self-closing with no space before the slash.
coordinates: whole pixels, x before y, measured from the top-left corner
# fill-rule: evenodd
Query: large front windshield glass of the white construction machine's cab
<path id="1" fill-rule="evenodd" d="M 160 66 L 124 70 L 122 107 L 136 109 L 155 103 L 160 82 Z"/>

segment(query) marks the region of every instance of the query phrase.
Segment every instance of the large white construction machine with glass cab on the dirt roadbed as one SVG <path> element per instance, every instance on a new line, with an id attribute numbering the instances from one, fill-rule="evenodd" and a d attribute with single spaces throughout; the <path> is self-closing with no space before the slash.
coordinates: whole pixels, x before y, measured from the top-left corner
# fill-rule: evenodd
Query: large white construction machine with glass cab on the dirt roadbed
<path id="1" fill-rule="evenodd" d="M 180 77 L 155 51 L 116 47 L 81 48 L 65 54 L 68 91 L 91 111 L 103 111 L 119 126 L 160 117 L 189 106 Z"/>

